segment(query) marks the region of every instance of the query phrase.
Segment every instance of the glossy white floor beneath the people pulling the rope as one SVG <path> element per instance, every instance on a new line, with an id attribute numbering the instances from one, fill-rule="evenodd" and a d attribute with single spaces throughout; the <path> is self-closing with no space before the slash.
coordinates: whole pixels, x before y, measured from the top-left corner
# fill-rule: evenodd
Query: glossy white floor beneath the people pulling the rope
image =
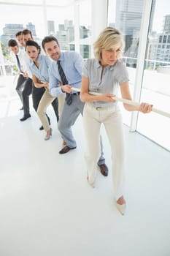
<path id="1" fill-rule="evenodd" d="M 20 102 L 1 102 L 1 256 L 169 256 L 170 153 L 125 128 L 127 210 L 115 208 L 112 174 L 86 181 L 82 118 L 74 125 L 77 149 L 59 155 L 61 137 L 53 110 L 53 136 L 40 122 L 20 122 Z M 107 165 L 109 143 L 104 138 Z"/>

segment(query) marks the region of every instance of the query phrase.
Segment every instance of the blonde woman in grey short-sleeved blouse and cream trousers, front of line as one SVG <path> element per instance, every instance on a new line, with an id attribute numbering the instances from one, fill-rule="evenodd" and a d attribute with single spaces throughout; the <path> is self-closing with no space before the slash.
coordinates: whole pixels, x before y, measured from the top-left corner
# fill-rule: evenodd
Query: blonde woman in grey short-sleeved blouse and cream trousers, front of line
<path id="1" fill-rule="evenodd" d="M 111 146 L 115 201 L 121 214 L 125 213 L 125 145 L 122 116 L 112 97 L 120 89 L 122 97 L 131 100 L 128 72 L 120 60 L 123 45 L 122 34 L 117 29 L 107 27 L 101 31 L 93 44 L 95 59 L 88 59 L 82 68 L 80 93 L 80 99 L 85 102 L 83 121 L 87 142 L 85 160 L 88 166 L 88 183 L 95 186 L 96 162 L 100 154 L 100 127 L 104 124 Z M 101 94 L 93 96 L 89 91 Z M 141 103 L 138 107 L 124 104 L 124 108 L 149 113 L 152 105 Z"/>

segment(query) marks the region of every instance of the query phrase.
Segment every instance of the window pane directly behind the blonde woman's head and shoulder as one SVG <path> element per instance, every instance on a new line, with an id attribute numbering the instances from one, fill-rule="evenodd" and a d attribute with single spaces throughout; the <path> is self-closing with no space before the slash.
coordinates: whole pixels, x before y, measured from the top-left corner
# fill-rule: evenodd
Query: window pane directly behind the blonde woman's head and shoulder
<path id="1" fill-rule="evenodd" d="M 122 59 L 128 68 L 129 86 L 133 97 L 143 0 L 109 0 L 108 10 L 109 26 L 115 26 L 115 28 L 120 29 L 124 36 L 125 49 Z M 123 122 L 130 126 L 131 112 L 124 110 L 121 103 L 120 108 L 123 113 Z"/>

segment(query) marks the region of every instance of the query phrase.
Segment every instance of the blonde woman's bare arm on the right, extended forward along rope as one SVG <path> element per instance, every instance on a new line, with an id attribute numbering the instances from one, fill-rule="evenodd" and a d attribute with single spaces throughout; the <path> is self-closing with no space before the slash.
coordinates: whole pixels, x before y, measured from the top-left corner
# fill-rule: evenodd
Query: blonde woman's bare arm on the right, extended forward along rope
<path id="1" fill-rule="evenodd" d="M 131 100 L 131 93 L 129 90 L 128 82 L 125 82 L 120 85 L 120 91 L 123 99 Z M 140 111 L 142 113 L 150 113 L 152 111 L 152 105 L 142 102 L 139 106 L 129 105 L 123 103 L 125 110 L 128 111 Z"/>

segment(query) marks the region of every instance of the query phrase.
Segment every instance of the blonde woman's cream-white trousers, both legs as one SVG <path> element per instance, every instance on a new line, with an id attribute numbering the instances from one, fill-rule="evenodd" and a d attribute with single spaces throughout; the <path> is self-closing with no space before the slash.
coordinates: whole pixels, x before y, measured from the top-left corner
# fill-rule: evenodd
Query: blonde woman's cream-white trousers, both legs
<path id="1" fill-rule="evenodd" d="M 100 127 L 104 124 L 112 152 L 112 178 L 116 200 L 123 195 L 125 182 L 125 143 L 123 121 L 117 106 L 97 110 L 85 103 L 83 123 L 87 150 L 85 162 L 88 168 L 88 179 L 93 183 L 96 179 L 97 162 L 100 156 Z"/>

